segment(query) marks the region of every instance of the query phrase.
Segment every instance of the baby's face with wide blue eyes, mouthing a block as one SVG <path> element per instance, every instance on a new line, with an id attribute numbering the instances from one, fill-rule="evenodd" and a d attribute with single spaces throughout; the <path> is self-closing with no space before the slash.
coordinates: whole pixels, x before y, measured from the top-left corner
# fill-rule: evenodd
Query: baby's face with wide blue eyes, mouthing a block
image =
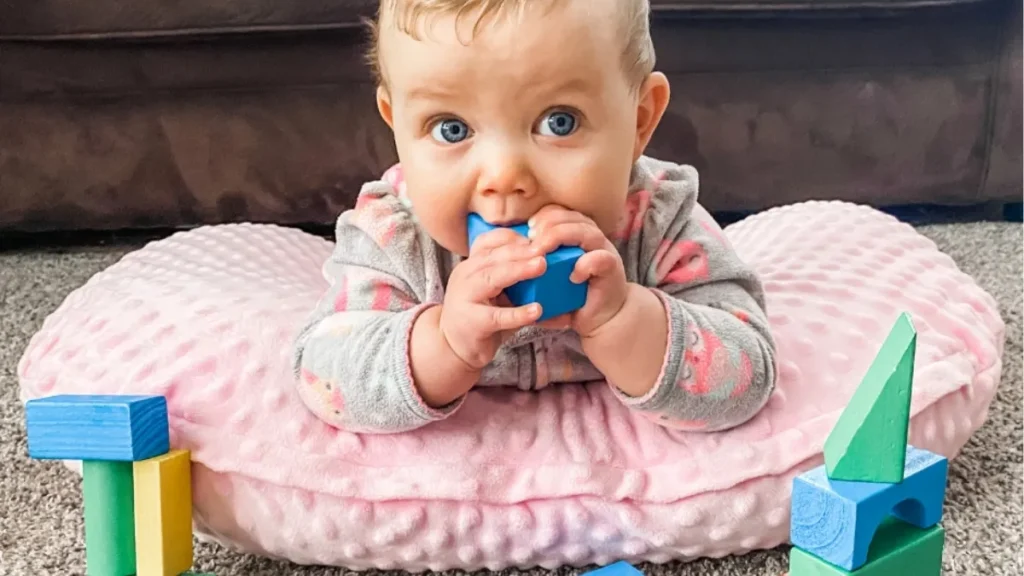
<path id="1" fill-rule="evenodd" d="M 645 112 L 644 89 L 630 89 L 614 1 L 532 3 L 471 42 L 471 17 L 458 30 L 454 16 L 427 18 L 419 41 L 383 27 L 378 105 L 413 210 L 441 246 L 468 253 L 470 212 L 512 224 L 547 204 L 615 230 L 648 112 L 656 124 L 664 106 Z"/>

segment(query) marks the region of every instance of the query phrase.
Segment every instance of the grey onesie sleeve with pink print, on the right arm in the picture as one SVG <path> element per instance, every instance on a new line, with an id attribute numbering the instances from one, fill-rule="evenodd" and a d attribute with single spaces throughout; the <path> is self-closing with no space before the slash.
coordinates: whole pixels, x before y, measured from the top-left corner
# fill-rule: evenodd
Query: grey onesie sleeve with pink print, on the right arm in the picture
<path id="1" fill-rule="evenodd" d="M 636 281 L 665 304 L 668 347 L 651 392 L 615 393 L 669 427 L 727 429 L 757 414 L 775 386 L 762 285 L 696 203 L 696 171 L 643 160 L 624 236 L 634 245 Z"/>

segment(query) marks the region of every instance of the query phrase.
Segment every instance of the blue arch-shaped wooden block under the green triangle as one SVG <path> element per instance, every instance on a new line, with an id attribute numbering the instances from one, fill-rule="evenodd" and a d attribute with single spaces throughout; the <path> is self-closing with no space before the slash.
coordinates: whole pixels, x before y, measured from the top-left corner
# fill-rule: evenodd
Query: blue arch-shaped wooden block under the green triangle
<path id="1" fill-rule="evenodd" d="M 829 480 L 824 465 L 794 479 L 793 545 L 853 571 L 867 561 L 871 539 L 890 515 L 918 528 L 937 525 L 948 461 L 907 446 L 905 462 L 898 484 Z"/>

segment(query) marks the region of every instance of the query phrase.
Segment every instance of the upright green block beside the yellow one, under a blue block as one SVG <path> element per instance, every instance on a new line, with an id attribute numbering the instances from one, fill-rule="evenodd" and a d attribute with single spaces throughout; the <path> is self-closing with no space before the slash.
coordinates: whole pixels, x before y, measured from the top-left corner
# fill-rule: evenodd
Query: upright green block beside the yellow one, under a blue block
<path id="1" fill-rule="evenodd" d="M 135 574 L 132 466 L 132 462 L 82 462 L 85 565 L 88 576 Z"/>

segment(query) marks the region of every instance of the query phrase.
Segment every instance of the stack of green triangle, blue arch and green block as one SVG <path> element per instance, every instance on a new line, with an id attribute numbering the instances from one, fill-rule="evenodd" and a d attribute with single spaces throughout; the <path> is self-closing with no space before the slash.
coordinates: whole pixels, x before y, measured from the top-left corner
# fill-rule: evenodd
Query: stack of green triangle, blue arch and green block
<path id="1" fill-rule="evenodd" d="M 907 445 L 916 331 L 897 320 L 824 444 L 794 480 L 790 576 L 936 576 L 948 462 Z"/>

